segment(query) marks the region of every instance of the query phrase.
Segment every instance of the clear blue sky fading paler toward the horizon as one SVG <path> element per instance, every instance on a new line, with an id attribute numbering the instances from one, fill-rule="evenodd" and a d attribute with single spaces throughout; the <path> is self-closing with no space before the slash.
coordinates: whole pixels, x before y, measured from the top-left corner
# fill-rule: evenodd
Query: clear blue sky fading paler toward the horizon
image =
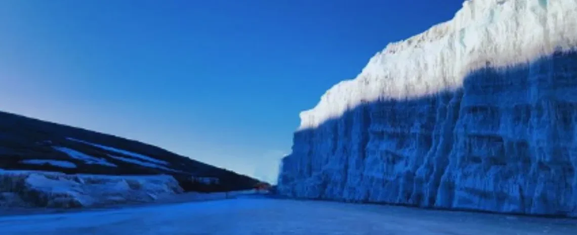
<path id="1" fill-rule="evenodd" d="M 0 110 L 275 181 L 298 113 L 462 0 L 2 0 Z"/>

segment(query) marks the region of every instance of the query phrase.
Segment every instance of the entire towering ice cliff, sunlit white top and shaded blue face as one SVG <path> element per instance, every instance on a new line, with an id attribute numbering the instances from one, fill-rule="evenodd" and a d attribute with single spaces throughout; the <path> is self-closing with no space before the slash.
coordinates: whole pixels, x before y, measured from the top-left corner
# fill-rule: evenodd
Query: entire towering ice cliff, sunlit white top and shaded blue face
<path id="1" fill-rule="evenodd" d="M 280 194 L 577 216 L 577 1 L 470 0 L 300 114 Z"/>

